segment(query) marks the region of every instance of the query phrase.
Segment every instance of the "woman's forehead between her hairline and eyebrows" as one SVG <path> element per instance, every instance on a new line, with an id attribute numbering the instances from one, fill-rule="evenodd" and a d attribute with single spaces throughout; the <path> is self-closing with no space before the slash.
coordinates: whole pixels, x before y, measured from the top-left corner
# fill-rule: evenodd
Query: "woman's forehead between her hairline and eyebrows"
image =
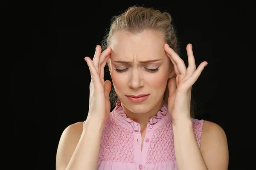
<path id="1" fill-rule="evenodd" d="M 164 36 L 160 31 L 144 30 L 132 34 L 126 31 L 116 31 L 111 39 L 111 58 L 131 60 L 156 59 L 165 54 Z"/>

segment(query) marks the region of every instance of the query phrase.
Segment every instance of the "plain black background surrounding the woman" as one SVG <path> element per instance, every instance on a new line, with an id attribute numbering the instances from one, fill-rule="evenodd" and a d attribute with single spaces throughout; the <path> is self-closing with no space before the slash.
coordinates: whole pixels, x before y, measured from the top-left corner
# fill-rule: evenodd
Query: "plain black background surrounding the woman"
<path id="1" fill-rule="evenodd" d="M 249 113 L 242 95 L 251 96 L 244 92 L 251 81 L 244 74 L 250 72 L 246 65 L 254 55 L 250 43 L 253 5 L 215 0 L 3 4 L 6 21 L 13 25 L 13 51 L 18 53 L 10 58 L 7 96 L 14 115 L 13 165 L 55 169 L 62 131 L 87 117 L 90 72 L 84 57 L 93 57 L 111 18 L 134 5 L 168 11 L 181 43 L 180 57 L 187 64 L 186 45 L 192 43 L 197 66 L 203 61 L 209 63 L 193 86 L 197 116 L 217 123 L 226 132 L 230 170 L 249 166 L 249 149 L 245 148 L 249 146 L 245 128 Z"/>

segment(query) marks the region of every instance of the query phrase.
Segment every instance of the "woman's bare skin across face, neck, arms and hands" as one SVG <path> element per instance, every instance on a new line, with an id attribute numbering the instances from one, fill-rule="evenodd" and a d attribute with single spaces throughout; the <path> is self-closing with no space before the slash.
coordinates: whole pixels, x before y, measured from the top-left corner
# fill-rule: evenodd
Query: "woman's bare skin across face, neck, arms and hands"
<path id="1" fill-rule="evenodd" d="M 160 110 L 163 93 L 168 85 L 168 111 L 172 117 L 177 169 L 227 170 L 228 146 L 224 130 L 213 122 L 204 121 L 200 147 L 195 138 L 189 113 L 191 87 L 207 62 L 202 62 L 196 68 L 192 45 L 188 44 L 186 50 L 188 68 L 172 48 L 163 42 L 163 35 L 154 30 L 145 30 L 140 34 L 116 32 L 111 47 L 103 52 L 98 45 L 93 61 L 89 57 L 85 58 L 92 77 L 86 123 L 84 128 L 83 122 L 70 125 L 62 133 L 56 169 L 96 169 L 102 129 L 110 110 L 108 96 L 111 84 L 108 80 L 104 81 L 104 67 L 111 58 L 109 69 L 116 93 L 127 116 L 140 123 L 142 137 L 145 136 L 146 123 Z M 150 64 L 140 63 L 151 59 L 160 60 Z M 117 60 L 130 63 L 120 65 L 115 62 Z M 146 69 L 156 67 L 159 67 L 159 71 L 153 73 Z M 116 68 L 128 69 L 121 73 Z M 176 78 L 173 77 L 174 73 Z M 131 103 L 125 97 L 142 93 L 148 93 L 150 97 L 141 103 Z"/>

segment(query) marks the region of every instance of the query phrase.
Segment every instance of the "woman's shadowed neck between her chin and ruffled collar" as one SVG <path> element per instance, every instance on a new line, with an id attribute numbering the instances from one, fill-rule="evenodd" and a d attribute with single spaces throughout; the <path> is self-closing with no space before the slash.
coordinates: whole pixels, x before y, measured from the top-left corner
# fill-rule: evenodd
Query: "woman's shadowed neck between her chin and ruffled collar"
<path id="1" fill-rule="evenodd" d="M 125 111 L 125 114 L 128 118 L 132 119 L 134 122 L 137 122 L 140 124 L 140 128 L 141 128 L 141 131 L 143 132 L 146 127 L 147 127 L 147 124 L 149 122 L 149 120 L 151 119 L 151 117 L 153 116 L 157 116 L 157 112 L 161 110 L 161 108 L 163 107 L 163 102 L 160 101 L 157 103 L 157 105 L 151 110 L 151 111 L 148 111 L 146 113 L 134 113 L 130 110 L 128 110 L 128 108 L 126 108 L 122 102 L 121 102 L 121 106 L 123 108 L 123 110 Z"/>

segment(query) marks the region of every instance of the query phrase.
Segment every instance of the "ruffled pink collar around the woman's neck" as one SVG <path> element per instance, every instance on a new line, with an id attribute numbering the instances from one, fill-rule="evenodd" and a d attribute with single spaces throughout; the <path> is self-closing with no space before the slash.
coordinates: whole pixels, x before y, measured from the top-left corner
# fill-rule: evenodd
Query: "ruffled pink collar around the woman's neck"
<path id="1" fill-rule="evenodd" d="M 119 123 L 122 127 L 125 127 L 128 130 L 140 131 L 140 124 L 128 118 L 121 106 L 121 102 L 116 102 L 116 107 L 112 111 L 112 115 L 116 118 L 116 122 Z M 171 119 L 171 116 L 168 114 L 167 107 L 163 104 L 163 107 L 160 111 L 157 112 L 157 116 L 151 117 L 148 122 L 148 125 L 154 125 L 154 127 L 159 127 L 160 125 L 168 122 Z M 155 126 L 156 124 L 159 124 Z M 155 128 L 152 128 L 154 130 Z"/>

